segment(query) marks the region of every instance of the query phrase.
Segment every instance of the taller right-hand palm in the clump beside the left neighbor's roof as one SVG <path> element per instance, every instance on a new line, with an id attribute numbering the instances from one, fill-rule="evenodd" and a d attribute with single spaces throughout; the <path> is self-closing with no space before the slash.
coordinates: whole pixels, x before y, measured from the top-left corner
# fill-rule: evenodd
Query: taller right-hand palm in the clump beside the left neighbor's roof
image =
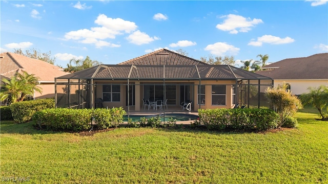
<path id="1" fill-rule="evenodd" d="M 16 79 L 24 86 L 19 101 L 23 101 L 27 95 L 33 95 L 34 91 L 42 93 L 42 88 L 37 86 L 39 78 L 35 77 L 34 74 L 28 74 L 24 71 L 23 73 L 18 73 Z"/>

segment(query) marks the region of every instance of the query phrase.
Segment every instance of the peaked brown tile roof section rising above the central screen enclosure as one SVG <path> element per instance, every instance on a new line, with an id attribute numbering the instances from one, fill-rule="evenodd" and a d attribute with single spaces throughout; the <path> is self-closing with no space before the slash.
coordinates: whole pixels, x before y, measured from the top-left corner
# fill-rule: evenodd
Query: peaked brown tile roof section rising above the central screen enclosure
<path id="1" fill-rule="evenodd" d="M 119 63 L 120 65 L 208 65 L 207 63 L 196 59 L 183 56 L 167 49 L 158 51 L 130 59 Z"/>

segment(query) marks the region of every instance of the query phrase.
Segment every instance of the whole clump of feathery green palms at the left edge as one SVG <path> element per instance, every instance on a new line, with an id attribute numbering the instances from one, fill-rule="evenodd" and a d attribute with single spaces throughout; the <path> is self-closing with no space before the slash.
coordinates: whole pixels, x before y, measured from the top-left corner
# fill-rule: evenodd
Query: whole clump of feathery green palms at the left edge
<path id="1" fill-rule="evenodd" d="M 42 93 L 42 88 L 37 86 L 38 78 L 25 71 L 10 80 L 3 79 L 2 81 L 5 84 L 1 86 L 1 101 L 7 101 L 9 104 L 23 101 L 26 96 L 33 95 L 34 90 Z"/>

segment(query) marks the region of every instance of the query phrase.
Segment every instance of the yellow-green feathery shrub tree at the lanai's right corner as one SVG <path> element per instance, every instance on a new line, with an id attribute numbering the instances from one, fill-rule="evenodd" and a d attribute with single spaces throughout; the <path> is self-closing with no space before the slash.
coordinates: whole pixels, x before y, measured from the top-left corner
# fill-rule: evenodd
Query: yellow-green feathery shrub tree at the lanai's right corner
<path id="1" fill-rule="evenodd" d="M 301 101 L 297 96 L 292 95 L 287 88 L 288 85 L 282 83 L 272 89 L 268 88 L 264 94 L 268 99 L 270 108 L 279 114 L 278 127 L 281 127 L 289 117 L 292 117 L 298 109 L 302 108 Z"/>

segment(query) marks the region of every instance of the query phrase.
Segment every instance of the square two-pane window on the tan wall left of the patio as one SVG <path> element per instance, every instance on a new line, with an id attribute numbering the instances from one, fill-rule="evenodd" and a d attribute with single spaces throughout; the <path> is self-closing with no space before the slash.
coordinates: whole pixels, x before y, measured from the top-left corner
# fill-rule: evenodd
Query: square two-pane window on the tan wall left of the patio
<path id="1" fill-rule="evenodd" d="M 103 85 L 104 102 L 120 102 L 120 85 Z"/>

